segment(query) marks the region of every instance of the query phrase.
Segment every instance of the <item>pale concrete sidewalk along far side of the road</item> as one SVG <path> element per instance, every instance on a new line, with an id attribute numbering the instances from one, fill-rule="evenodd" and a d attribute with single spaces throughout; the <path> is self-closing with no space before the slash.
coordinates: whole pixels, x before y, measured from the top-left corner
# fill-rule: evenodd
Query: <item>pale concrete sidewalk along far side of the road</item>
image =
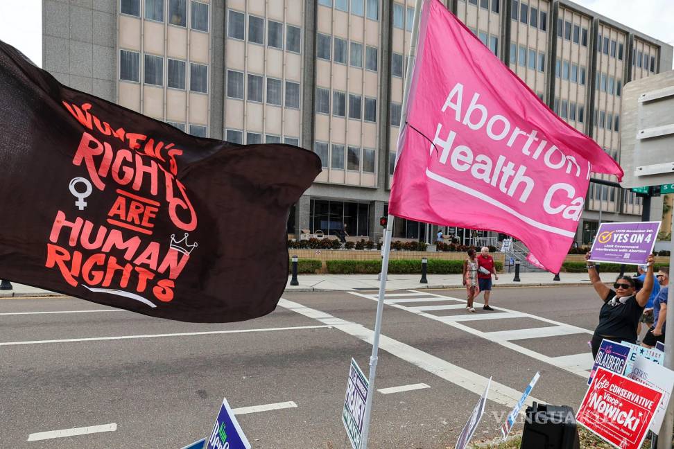
<path id="1" fill-rule="evenodd" d="M 499 287 L 533 287 L 540 285 L 589 285 L 587 273 L 561 273 L 561 281 L 553 281 L 551 273 L 521 273 L 520 282 L 513 282 L 513 273 L 499 274 L 499 280 L 494 281 L 494 288 Z M 602 273 L 604 281 L 613 281 L 618 273 Z M 420 274 L 389 274 L 386 290 L 408 290 L 421 288 L 463 288 L 460 274 L 429 274 L 426 276 L 429 283 L 420 283 Z M 300 285 L 290 285 L 291 276 L 288 276 L 286 292 L 330 292 L 345 290 L 377 290 L 379 281 L 377 274 L 299 274 L 297 281 Z M 21 297 L 62 297 L 64 294 L 42 290 L 12 283 L 12 290 L 0 290 L 1 298 Z"/>

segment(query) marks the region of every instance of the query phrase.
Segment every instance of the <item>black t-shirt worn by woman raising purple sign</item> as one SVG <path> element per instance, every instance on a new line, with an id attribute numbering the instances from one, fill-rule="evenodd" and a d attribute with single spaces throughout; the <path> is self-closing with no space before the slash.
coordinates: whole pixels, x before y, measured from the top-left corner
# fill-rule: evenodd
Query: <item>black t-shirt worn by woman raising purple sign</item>
<path id="1" fill-rule="evenodd" d="M 606 337 L 637 340 L 637 325 L 643 313 L 643 307 L 639 306 L 634 295 L 628 297 L 625 303 L 618 301 L 615 306 L 612 306 L 611 299 L 615 296 L 616 292 L 610 290 L 604 299 L 604 305 L 599 311 L 599 325 L 594 333 Z"/>

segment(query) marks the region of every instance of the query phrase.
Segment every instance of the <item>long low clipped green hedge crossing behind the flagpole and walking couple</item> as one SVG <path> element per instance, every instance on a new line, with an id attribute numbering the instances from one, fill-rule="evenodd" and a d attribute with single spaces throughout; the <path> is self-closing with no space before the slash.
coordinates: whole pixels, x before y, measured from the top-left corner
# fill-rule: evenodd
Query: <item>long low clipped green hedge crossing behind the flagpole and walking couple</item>
<path id="1" fill-rule="evenodd" d="M 330 274 L 377 274 L 381 272 L 381 261 L 336 260 L 326 261 L 327 272 Z M 392 259 L 388 261 L 389 274 L 419 274 L 421 261 L 418 259 Z M 501 271 L 503 263 L 496 262 L 496 270 Z M 463 272 L 463 261 L 445 261 L 443 259 L 429 259 L 427 267 L 429 274 L 460 274 Z"/>

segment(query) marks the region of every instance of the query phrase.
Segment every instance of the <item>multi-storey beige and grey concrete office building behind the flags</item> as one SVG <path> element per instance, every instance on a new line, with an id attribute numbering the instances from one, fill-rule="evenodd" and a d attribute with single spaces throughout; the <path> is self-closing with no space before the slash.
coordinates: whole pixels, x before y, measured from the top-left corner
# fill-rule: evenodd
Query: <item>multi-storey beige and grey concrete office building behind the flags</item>
<path id="1" fill-rule="evenodd" d="M 295 205 L 288 234 L 347 224 L 352 236 L 381 237 L 414 0 L 42 3 L 43 67 L 58 80 L 198 136 L 311 148 L 323 172 Z M 570 1 L 444 4 L 618 160 L 621 89 L 672 67 L 671 46 Z M 576 240 L 589 243 L 600 219 L 639 220 L 641 208 L 633 193 L 591 183 Z M 396 238 L 429 241 L 436 231 L 395 220 Z M 444 233 L 465 243 L 486 236 Z"/>

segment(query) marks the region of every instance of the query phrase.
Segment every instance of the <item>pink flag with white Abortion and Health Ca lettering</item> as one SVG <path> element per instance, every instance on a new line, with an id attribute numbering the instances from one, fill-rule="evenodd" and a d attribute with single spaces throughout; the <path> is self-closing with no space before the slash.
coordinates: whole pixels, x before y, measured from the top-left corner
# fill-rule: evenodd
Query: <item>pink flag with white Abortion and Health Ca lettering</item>
<path id="1" fill-rule="evenodd" d="M 438 0 L 426 0 L 389 211 L 501 231 L 558 272 L 591 172 L 623 170 L 556 116 Z"/>

